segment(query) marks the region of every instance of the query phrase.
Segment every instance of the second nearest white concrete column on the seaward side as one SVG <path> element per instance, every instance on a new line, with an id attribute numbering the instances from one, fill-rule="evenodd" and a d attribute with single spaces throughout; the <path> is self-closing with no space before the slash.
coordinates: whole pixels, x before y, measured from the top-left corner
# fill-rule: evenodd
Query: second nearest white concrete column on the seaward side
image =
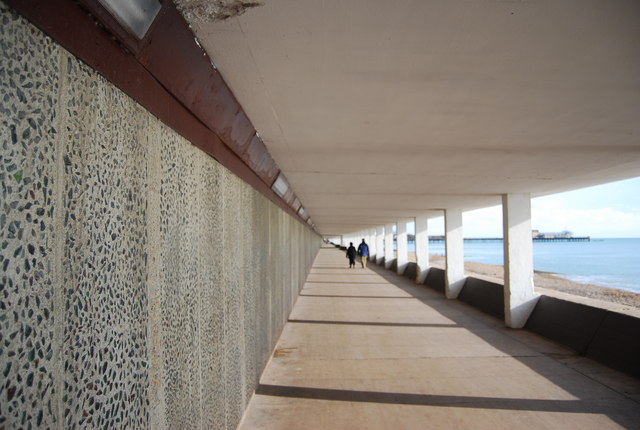
<path id="1" fill-rule="evenodd" d="M 444 211 L 446 279 L 445 289 L 448 299 L 455 299 L 464 285 L 464 238 L 462 236 L 462 211 Z"/>

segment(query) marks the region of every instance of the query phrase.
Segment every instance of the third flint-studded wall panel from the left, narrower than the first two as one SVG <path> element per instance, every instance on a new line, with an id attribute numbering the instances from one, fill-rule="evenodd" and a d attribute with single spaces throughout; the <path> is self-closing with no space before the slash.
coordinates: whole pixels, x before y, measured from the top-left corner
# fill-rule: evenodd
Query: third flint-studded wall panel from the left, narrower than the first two
<path id="1" fill-rule="evenodd" d="M 161 144 L 161 308 L 170 427 L 200 425 L 195 151 L 167 134 Z"/>

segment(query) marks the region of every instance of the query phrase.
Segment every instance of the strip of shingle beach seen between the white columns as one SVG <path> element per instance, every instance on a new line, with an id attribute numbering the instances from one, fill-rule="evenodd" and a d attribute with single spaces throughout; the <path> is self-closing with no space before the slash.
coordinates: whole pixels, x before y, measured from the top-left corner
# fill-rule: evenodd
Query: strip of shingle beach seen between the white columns
<path id="1" fill-rule="evenodd" d="M 409 261 L 415 262 L 415 253 L 409 252 Z M 429 265 L 445 268 L 442 255 L 430 254 Z M 465 261 L 465 275 L 484 279 L 498 284 L 504 283 L 504 268 L 499 265 Z M 584 304 L 603 307 L 609 310 L 640 315 L 640 294 L 618 290 L 600 285 L 583 284 L 562 278 L 557 274 L 535 271 L 534 290 L 538 294 L 558 298 L 573 299 Z"/>

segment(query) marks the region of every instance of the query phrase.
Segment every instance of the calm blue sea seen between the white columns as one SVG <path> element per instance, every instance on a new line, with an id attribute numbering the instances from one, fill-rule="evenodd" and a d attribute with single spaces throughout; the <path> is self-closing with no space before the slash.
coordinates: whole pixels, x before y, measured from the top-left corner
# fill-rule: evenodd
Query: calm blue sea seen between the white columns
<path id="1" fill-rule="evenodd" d="M 502 241 L 465 241 L 464 258 L 501 266 L 502 247 Z M 429 242 L 429 253 L 444 255 L 444 242 Z M 533 266 L 571 281 L 640 293 L 640 238 L 534 242 Z"/>

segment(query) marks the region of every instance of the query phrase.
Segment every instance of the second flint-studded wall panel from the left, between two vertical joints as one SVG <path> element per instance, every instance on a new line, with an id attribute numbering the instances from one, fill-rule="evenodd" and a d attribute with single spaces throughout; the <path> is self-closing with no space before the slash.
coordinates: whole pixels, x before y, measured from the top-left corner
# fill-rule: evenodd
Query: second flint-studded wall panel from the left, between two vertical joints
<path id="1" fill-rule="evenodd" d="M 146 125 L 75 58 L 63 65 L 61 238 L 65 425 L 148 421 Z"/>

